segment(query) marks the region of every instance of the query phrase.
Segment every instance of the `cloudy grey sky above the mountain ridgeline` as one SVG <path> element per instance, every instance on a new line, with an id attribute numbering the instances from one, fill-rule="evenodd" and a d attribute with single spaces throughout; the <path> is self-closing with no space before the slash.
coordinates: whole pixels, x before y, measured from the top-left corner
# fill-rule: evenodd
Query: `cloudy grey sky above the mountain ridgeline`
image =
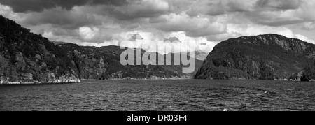
<path id="1" fill-rule="evenodd" d="M 0 14 L 51 41 L 97 47 L 187 42 L 211 52 L 259 34 L 315 43 L 314 0 L 0 0 Z"/>

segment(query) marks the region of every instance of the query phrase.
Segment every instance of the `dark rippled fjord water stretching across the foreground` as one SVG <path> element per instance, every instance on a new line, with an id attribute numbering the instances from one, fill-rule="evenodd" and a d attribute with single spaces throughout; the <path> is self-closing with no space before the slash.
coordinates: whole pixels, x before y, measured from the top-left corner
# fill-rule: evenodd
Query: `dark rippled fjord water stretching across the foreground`
<path id="1" fill-rule="evenodd" d="M 0 86 L 0 110 L 315 110 L 314 82 L 87 80 Z"/>

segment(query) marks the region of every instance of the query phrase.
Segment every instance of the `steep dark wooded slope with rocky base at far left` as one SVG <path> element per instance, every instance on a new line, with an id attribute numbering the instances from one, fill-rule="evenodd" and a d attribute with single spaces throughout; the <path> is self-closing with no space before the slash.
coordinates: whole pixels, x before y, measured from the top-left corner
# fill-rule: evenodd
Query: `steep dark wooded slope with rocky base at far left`
<path id="1" fill-rule="evenodd" d="M 64 62 L 68 55 L 59 50 L 47 38 L 0 16 L 0 84 L 80 82 Z"/>

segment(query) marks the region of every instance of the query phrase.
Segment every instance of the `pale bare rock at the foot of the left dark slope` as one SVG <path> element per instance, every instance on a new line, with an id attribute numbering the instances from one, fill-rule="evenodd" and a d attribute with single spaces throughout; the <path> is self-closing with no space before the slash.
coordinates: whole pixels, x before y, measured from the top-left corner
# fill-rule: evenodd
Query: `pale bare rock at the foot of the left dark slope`
<path id="1" fill-rule="evenodd" d="M 35 62 L 26 59 L 21 52 L 15 56 L 15 64 L 10 64 L 8 59 L 0 54 L 0 84 L 47 84 L 47 83 L 69 83 L 80 82 L 75 75 L 69 73 L 59 75 L 52 73 L 43 66 L 38 66 Z M 43 69 L 44 68 L 44 69 Z M 42 71 L 43 70 L 43 71 Z M 45 71 L 45 72 L 44 72 Z"/>

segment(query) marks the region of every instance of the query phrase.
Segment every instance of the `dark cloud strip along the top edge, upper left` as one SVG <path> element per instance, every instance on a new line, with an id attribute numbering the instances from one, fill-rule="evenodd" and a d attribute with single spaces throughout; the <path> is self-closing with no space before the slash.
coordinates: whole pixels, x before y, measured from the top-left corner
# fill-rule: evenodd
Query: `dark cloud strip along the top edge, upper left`
<path id="1" fill-rule="evenodd" d="M 41 12 L 44 9 L 55 8 L 57 6 L 67 10 L 73 6 L 83 5 L 113 5 L 122 6 L 126 0 L 0 0 L 0 3 L 13 8 L 15 12 L 35 11 Z"/>

